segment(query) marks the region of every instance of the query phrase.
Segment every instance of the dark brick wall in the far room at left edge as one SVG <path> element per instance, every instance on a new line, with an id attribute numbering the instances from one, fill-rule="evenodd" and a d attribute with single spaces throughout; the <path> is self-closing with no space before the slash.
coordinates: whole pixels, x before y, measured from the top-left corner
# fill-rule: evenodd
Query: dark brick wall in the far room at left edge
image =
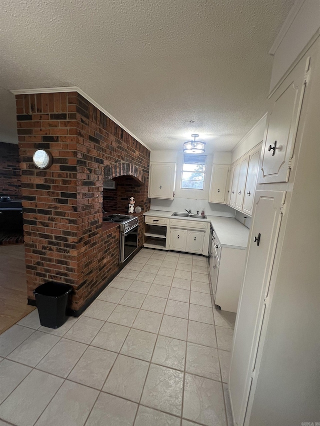
<path id="1" fill-rule="evenodd" d="M 0 195 L 21 198 L 19 147 L 0 142 Z"/>

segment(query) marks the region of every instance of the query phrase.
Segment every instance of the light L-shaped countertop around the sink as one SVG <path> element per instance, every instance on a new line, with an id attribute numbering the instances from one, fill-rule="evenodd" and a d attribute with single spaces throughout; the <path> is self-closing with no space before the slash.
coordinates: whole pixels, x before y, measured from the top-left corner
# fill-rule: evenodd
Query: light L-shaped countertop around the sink
<path id="1" fill-rule="evenodd" d="M 187 221 L 210 222 L 216 233 L 221 247 L 236 248 L 246 250 L 249 236 L 249 229 L 242 225 L 233 217 L 210 216 L 207 219 L 196 219 L 190 217 L 172 216 L 173 212 L 161 210 L 149 210 L 143 213 L 144 216 L 155 216 L 170 219 Z"/>

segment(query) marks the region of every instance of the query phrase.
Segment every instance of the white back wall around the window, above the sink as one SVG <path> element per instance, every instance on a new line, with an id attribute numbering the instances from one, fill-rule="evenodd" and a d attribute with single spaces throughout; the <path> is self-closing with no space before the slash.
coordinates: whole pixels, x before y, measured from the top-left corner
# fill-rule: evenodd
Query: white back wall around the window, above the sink
<path id="1" fill-rule="evenodd" d="M 219 164 L 230 164 L 231 153 L 219 152 L 214 154 L 214 162 L 216 159 L 222 161 Z M 183 212 L 184 209 L 191 209 L 192 213 L 204 209 L 204 213 L 208 215 L 234 217 L 234 210 L 225 204 L 208 203 L 210 180 L 212 173 L 212 154 L 206 156 L 206 173 L 204 178 L 204 188 L 200 189 L 182 189 L 181 188 L 181 171 L 183 153 L 180 151 L 160 151 L 153 150 L 150 153 L 150 162 L 175 162 L 176 163 L 176 179 L 173 200 L 161 200 L 151 198 L 152 210 Z"/>

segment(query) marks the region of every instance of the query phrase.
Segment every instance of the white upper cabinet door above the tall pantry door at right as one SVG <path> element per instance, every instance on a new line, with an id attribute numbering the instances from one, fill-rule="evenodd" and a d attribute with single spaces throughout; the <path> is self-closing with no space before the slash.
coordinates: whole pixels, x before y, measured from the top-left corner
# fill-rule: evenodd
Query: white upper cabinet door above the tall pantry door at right
<path id="1" fill-rule="evenodd" d="M 269 98 L 258 183 L 287 182 L 308 80 L 309 58 L 300 61 Z"/>

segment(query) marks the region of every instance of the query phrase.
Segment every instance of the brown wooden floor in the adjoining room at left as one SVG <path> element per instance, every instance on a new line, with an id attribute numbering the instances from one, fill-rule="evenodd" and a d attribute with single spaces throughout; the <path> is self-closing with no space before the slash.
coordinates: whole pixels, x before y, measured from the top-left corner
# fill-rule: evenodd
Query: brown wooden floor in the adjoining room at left
<path id="1" fill-rule="evenodd" d="M 27 305 L 23 244 L 0 246 L 0 334 L 35 309 Z"/>

